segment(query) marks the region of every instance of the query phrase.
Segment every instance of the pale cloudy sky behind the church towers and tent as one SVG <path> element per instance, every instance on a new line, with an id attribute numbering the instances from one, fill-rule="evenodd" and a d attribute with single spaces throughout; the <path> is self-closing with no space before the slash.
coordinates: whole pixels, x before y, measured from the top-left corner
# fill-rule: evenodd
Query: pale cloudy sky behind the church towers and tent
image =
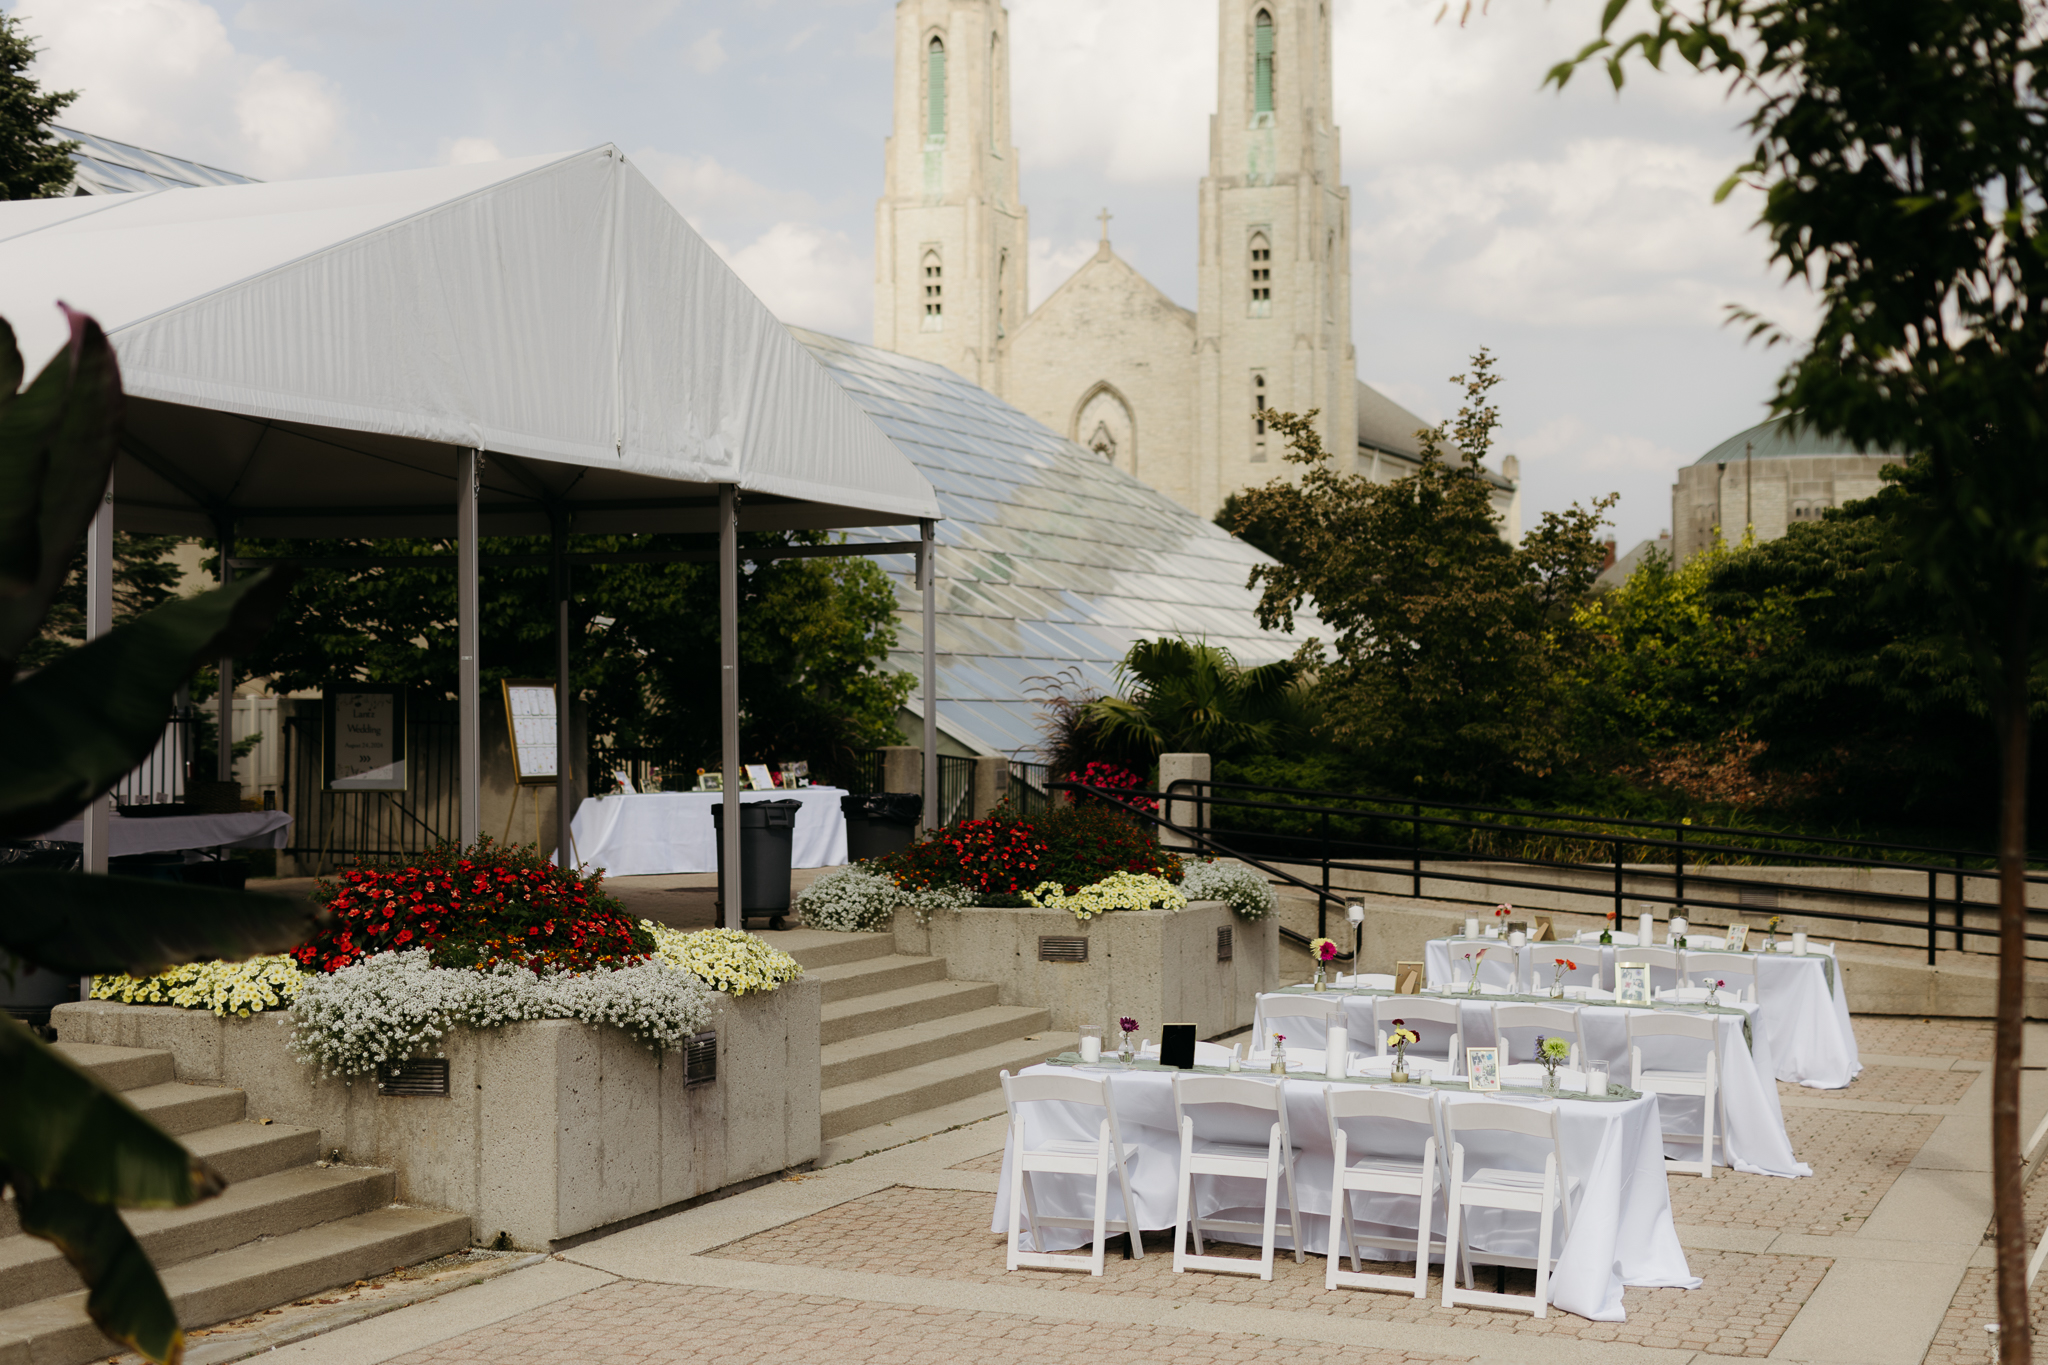
<path id="1" fill-rule="evenodd" d="M 0 0 L 4 2 L 4 0 Z M 78 127 L 264 178 L 614 141 L 786 321 L 868 338 L 889 131 L 889 0 L 12 0 Z M 1335 0 L 1358 370 L 1425 417 L 1479 346 L 1528 518 L 1618 491 L 1622 544 L 1669 524 L 1679 463 L 1757 422 L 1794 327 L 1718 86 L 1544 70 L 1597 0 Z M 1116 248 L 1194 305 L 1214 0 L 1010 0 L 1032 299 Z"/>

